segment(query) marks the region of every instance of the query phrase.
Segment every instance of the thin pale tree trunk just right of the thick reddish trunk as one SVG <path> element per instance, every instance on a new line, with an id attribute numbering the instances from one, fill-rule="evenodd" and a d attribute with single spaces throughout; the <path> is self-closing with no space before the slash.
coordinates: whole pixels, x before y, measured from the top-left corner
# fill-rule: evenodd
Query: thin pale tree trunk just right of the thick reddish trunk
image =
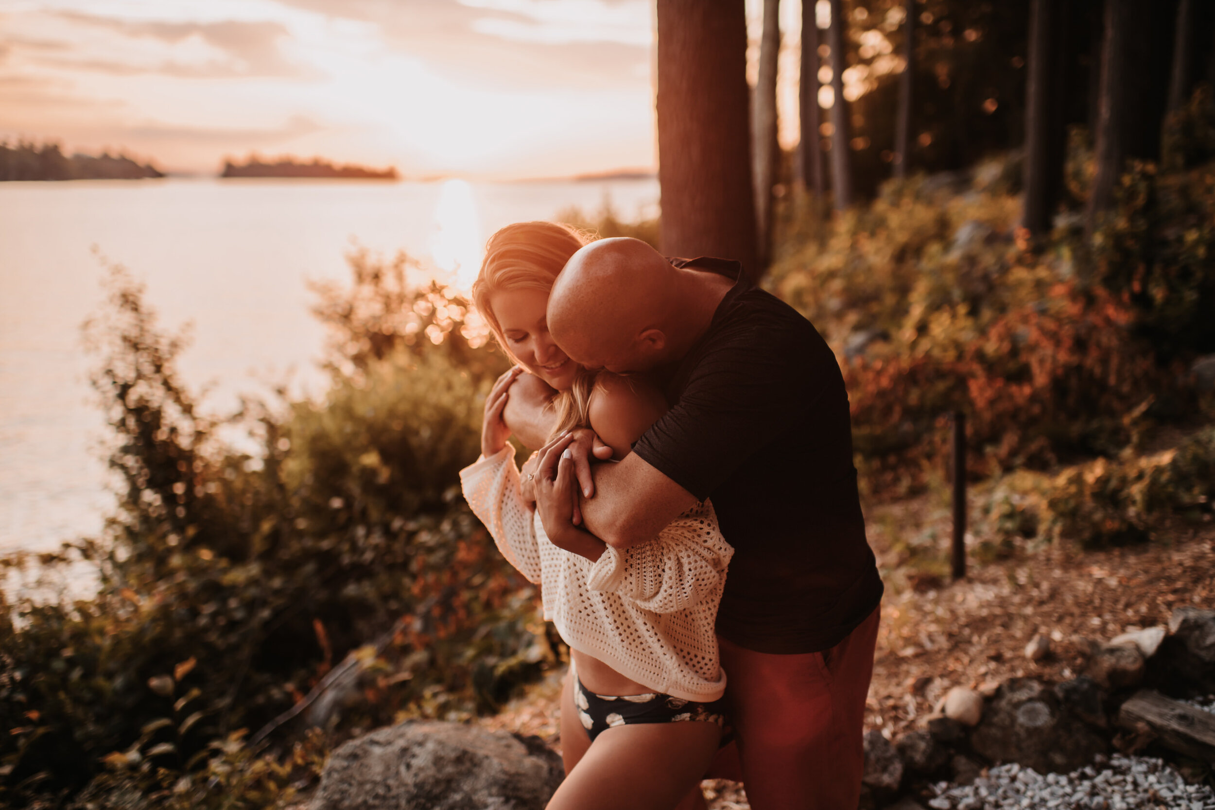
<path id="1" fill-rule="evenodd" d="M 759 38 L 759 75 L 751 97 L 751 168 L 756 196 L 756 233 L 759 270 L 772 254 L 772 187 L 776 182 L 776 61 L 780 56 L 780 0 L 763 2 Z"/>

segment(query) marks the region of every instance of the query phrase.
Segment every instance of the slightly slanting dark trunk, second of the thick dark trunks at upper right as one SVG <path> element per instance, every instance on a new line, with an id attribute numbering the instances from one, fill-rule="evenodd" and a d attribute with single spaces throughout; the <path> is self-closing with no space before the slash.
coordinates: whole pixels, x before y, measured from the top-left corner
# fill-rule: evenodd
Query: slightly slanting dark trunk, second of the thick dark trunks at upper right
<path id="1" fill-rule="evenodd" d="M 1101 87 L 1098 92 L 1096 174 L 1089 193 L 1085 211 L 1085 231 L 1091 237 L 1100 225 L 1101 215 L 1114 202 L 1118 185 L 1126 162 L 1128 80 L 1130 73 L 1128 50 L 1134 0 L 1106 0 L 1104 34 L 1101 43 Z"/>

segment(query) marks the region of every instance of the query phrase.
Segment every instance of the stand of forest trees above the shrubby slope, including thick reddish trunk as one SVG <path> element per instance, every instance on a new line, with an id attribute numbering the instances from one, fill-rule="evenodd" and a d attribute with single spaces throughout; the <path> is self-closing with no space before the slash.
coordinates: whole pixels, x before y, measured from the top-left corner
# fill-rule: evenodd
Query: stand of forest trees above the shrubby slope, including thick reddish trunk
<path id="1" fill-rule="evenodd" d="M 1095 153 L 1091 236 L 1126 162 L 1159 160 L 1168 117 L 1199 84 L 1215 84 L 1215 4 L 802 0 L 802 137 L 786 155 L 776 142 L 778 9 L 764 0 L 748 87 L 744 0 L 657 0 L 669 255 L 738 257 L 758 274 L 770 261 L 774 202 L 790 186 L 846 210 L 888 177 L 1008 151 L 1023 162 L 1022 225 L 1041 237 L 1063 193 L 1069 137 Z"/>

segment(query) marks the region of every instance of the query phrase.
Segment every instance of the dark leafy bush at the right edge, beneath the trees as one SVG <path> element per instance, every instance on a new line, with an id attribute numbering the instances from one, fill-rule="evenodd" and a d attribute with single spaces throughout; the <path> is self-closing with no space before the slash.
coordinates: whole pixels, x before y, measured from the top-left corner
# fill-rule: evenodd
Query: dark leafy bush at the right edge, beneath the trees
<path id="1" fill-rule="evenodd" d="M 1096 278 L 1159 352 L 1215 351 L 1215 103 L 1200 87 L 1165 128 L 1164 166 L 1134 162 L 1096 236 Z M 1200 163 L 1205 160 L 1205 163 Z"/>

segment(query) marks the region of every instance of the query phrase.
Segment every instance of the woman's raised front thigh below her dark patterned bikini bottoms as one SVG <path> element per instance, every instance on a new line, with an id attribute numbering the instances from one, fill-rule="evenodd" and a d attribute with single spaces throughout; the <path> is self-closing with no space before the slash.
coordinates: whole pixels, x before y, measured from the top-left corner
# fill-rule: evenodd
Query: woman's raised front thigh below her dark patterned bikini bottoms
<path id="1" fill-rule="evenodd" d="M 717 725 L 700 721 L 608 729 L 561 782 L 548 810 L 673 810 L 694 801 L 691 792 L 700 789 L 720 738 Z"/>

